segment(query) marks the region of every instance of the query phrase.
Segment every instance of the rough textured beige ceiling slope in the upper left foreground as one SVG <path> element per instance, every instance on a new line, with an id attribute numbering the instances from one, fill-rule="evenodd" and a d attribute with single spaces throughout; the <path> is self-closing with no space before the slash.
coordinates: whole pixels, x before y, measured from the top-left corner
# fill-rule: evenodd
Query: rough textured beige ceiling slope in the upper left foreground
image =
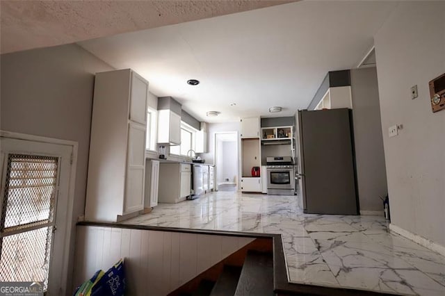
<path id="1" fill-rule="evenodd" d="M 0 1 L 2 54 L 293 1 Z"/>

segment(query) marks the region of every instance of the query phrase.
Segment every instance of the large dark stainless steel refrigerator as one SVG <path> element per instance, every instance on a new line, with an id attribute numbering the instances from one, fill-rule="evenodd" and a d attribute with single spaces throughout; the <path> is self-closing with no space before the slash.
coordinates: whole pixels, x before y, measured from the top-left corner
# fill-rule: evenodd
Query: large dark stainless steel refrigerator
<path id="1" fill-rule="evenodd" d="M 351 111 L 298 111 L 298 176 L 304 213 L 359 213 Z"/>

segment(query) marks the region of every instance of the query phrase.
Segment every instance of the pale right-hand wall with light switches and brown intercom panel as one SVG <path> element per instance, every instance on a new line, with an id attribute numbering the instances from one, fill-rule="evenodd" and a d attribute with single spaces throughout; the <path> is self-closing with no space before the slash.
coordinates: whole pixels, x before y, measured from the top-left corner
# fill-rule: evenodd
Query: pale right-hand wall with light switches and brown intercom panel
<path id="1" fill-rule="evenodd" d="M 445 245 L 445 110 L 428 81 L 445 72 L 445 3 L 401 2 L 375 35 L 391 223 Z M 419 97 L 410 98 L 418 85 Z M 394 138 L 388 128 L 403 124 Z"/>

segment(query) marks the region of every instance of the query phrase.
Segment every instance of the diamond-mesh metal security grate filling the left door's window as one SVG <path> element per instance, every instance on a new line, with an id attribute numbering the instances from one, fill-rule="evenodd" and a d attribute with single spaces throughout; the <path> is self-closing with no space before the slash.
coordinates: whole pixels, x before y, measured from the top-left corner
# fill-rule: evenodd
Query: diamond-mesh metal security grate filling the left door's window
<path id="1" fill-rule="evenodd" d="M 58 158 L 9 154 L 0 220 L 0 281 L 47 288 Z"/>

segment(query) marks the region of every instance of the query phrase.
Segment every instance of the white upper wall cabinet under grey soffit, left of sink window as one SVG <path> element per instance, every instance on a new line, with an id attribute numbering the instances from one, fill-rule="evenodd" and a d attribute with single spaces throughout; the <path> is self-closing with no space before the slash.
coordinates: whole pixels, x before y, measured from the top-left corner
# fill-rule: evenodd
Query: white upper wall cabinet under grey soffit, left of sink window
<path id="1" fill-rule="evenodd" d="M 171 110 L 158 110 L 158 142 L 181 144 L 181 116 Z"/>

